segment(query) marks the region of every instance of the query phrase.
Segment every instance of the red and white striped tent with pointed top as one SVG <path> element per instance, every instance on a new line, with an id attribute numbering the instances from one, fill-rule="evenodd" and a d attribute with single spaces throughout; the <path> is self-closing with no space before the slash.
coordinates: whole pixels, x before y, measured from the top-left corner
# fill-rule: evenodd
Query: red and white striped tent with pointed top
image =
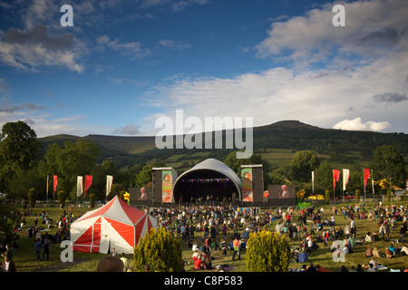
<path id="1" fill-rule="evenodd" d="M 102 208 L 88 211 L 73 222 L 73 250 L 107 254 L 115 248 L 118 253 L 131 254 L 151 227 L 157 227 L 155 218 L 115 196 Z"/>

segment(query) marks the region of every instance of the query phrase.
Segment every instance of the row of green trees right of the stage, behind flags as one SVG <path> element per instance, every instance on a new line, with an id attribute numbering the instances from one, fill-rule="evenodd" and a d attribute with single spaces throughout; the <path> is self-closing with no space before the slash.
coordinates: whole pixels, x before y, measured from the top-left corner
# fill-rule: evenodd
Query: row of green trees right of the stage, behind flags
<path id="1" fill-rule="evenodd" d="M 325 194 L 326 190 L 333 196 L 343 194 L 343 176 L 335 181 L 333 169 L 349 169 L 350 175 L 345 187 L 345 193 L 353 195 L 355 190 L 364 191 L 364 169 L 369 169 L 370 178 L 366 182 L 366 192 L 386 194 L 393 191 L 393 186 L 405 189 L 407 170 L 403 154 L 393 145 L 381 145 L 374 150 L 373 159 L 366 167 L 353 165 L 352 167 L 335 168 L 326 160 L 320 160 L 313 150 L 297 151 L 286 168 L 274 169 L 269 173 L 271 184 L 296 184 L 297 189 L 305 189 L 308 194 Z M 312 171 L 314 182 L 312 182 Z M 391 180 L 391 182 L 389 182 Z"/>

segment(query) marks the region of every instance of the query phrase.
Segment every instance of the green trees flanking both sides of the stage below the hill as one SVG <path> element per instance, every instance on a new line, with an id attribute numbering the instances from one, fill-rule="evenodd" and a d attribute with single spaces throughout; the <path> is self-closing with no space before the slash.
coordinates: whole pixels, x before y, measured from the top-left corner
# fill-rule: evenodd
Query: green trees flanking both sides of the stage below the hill
<path id="1" fill-rule="evenodd" d="M 63 145 L 48 145 L 45 153 L 41 153 L 41 143 L 35 131 L 24 121 L 8 122 L 2 128 L 0 137 L 0 191 L 7 198 L 27 198 L 30 191 L 35 198 L 56 198 L 53 196 L 53 176 L 58 177 L 57 191 L 63 190 L 69 199 L 76 198 L 76 182 L 78 176 L 92 175 L 92 186 L 87 191 L 98 200 L 105 199 L 106 176 L 113 176 L 111 195 L 131 187 L 144 187 L 151 182 L 153 167 L 165 166 L 163 162 L 143 162 L 117 169 L 112 159 L 99 160 L 100 147 L 92 141 L 66 141 Z M 286 168 L 270 169 L 267 160 L 254 153 L 248 160 L 237 160 L 236 152 L 226 156 L 224 163 L 240 176 L 240 166 L 245 164 L 262 164 L 264 171 L 264 188 L 269 184 L 296 184 L 298 189 L 306 189 L 312 193 L 311 172 L 316 175 L 315 193 L 323 194 L 333 189 L 333 166 L 320 160 L 314 150 L 299 150 Z M 404 188 L 407 171 L 403 154 L 393 145 L 382 145 L 374 150 L 374 157 L 369 164 L 374 172 L 374 180 L 392 180 L 392 184 Z M 47 177 L 49 181 L 47 184 Z M 384 182 L 376 182 L 375 191 L 386 190 Z M 340 190 L 340 186 L 336 187 Z M 362 190 L 363 168 L 350 168 L 350 179 L 347 191 Z M 47 192 L 48 189 L 48 192 Z M 372 190 L 371 182 L 367 190 Z M 83 198 L 83 197 L 80 197 Z"/>

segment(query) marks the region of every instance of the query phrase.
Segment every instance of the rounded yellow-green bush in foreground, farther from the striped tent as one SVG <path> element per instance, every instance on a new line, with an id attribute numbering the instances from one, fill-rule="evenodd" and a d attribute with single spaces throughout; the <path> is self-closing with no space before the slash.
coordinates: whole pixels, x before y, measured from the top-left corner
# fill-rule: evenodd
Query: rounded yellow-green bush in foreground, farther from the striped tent
<path id="1" fill-rule="evenodd" d="M 287 237 L 267 230 L 251 233 L 245 262 L 249 272 L 287 272 L 290 262 Z"/>

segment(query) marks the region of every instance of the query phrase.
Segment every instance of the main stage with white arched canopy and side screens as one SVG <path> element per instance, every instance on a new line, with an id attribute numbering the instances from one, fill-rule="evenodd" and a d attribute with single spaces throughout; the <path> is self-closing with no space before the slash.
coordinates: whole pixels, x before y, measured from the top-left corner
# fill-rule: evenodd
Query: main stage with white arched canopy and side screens
<path id="1" fill-rule="evenodd" d="M 242 165 L 240 177 L 225 163 L 208 159 L 178 176 L 171 167 L 153 168 L 149 188 L 131 188 L 135 208 L 175 205 L 234 205 L 275 208 L 296 206 L 293 185 L 268 186 L 264 190 L 262 165 Z M 267 194 L 266 194 L 267 192 Z"/>

